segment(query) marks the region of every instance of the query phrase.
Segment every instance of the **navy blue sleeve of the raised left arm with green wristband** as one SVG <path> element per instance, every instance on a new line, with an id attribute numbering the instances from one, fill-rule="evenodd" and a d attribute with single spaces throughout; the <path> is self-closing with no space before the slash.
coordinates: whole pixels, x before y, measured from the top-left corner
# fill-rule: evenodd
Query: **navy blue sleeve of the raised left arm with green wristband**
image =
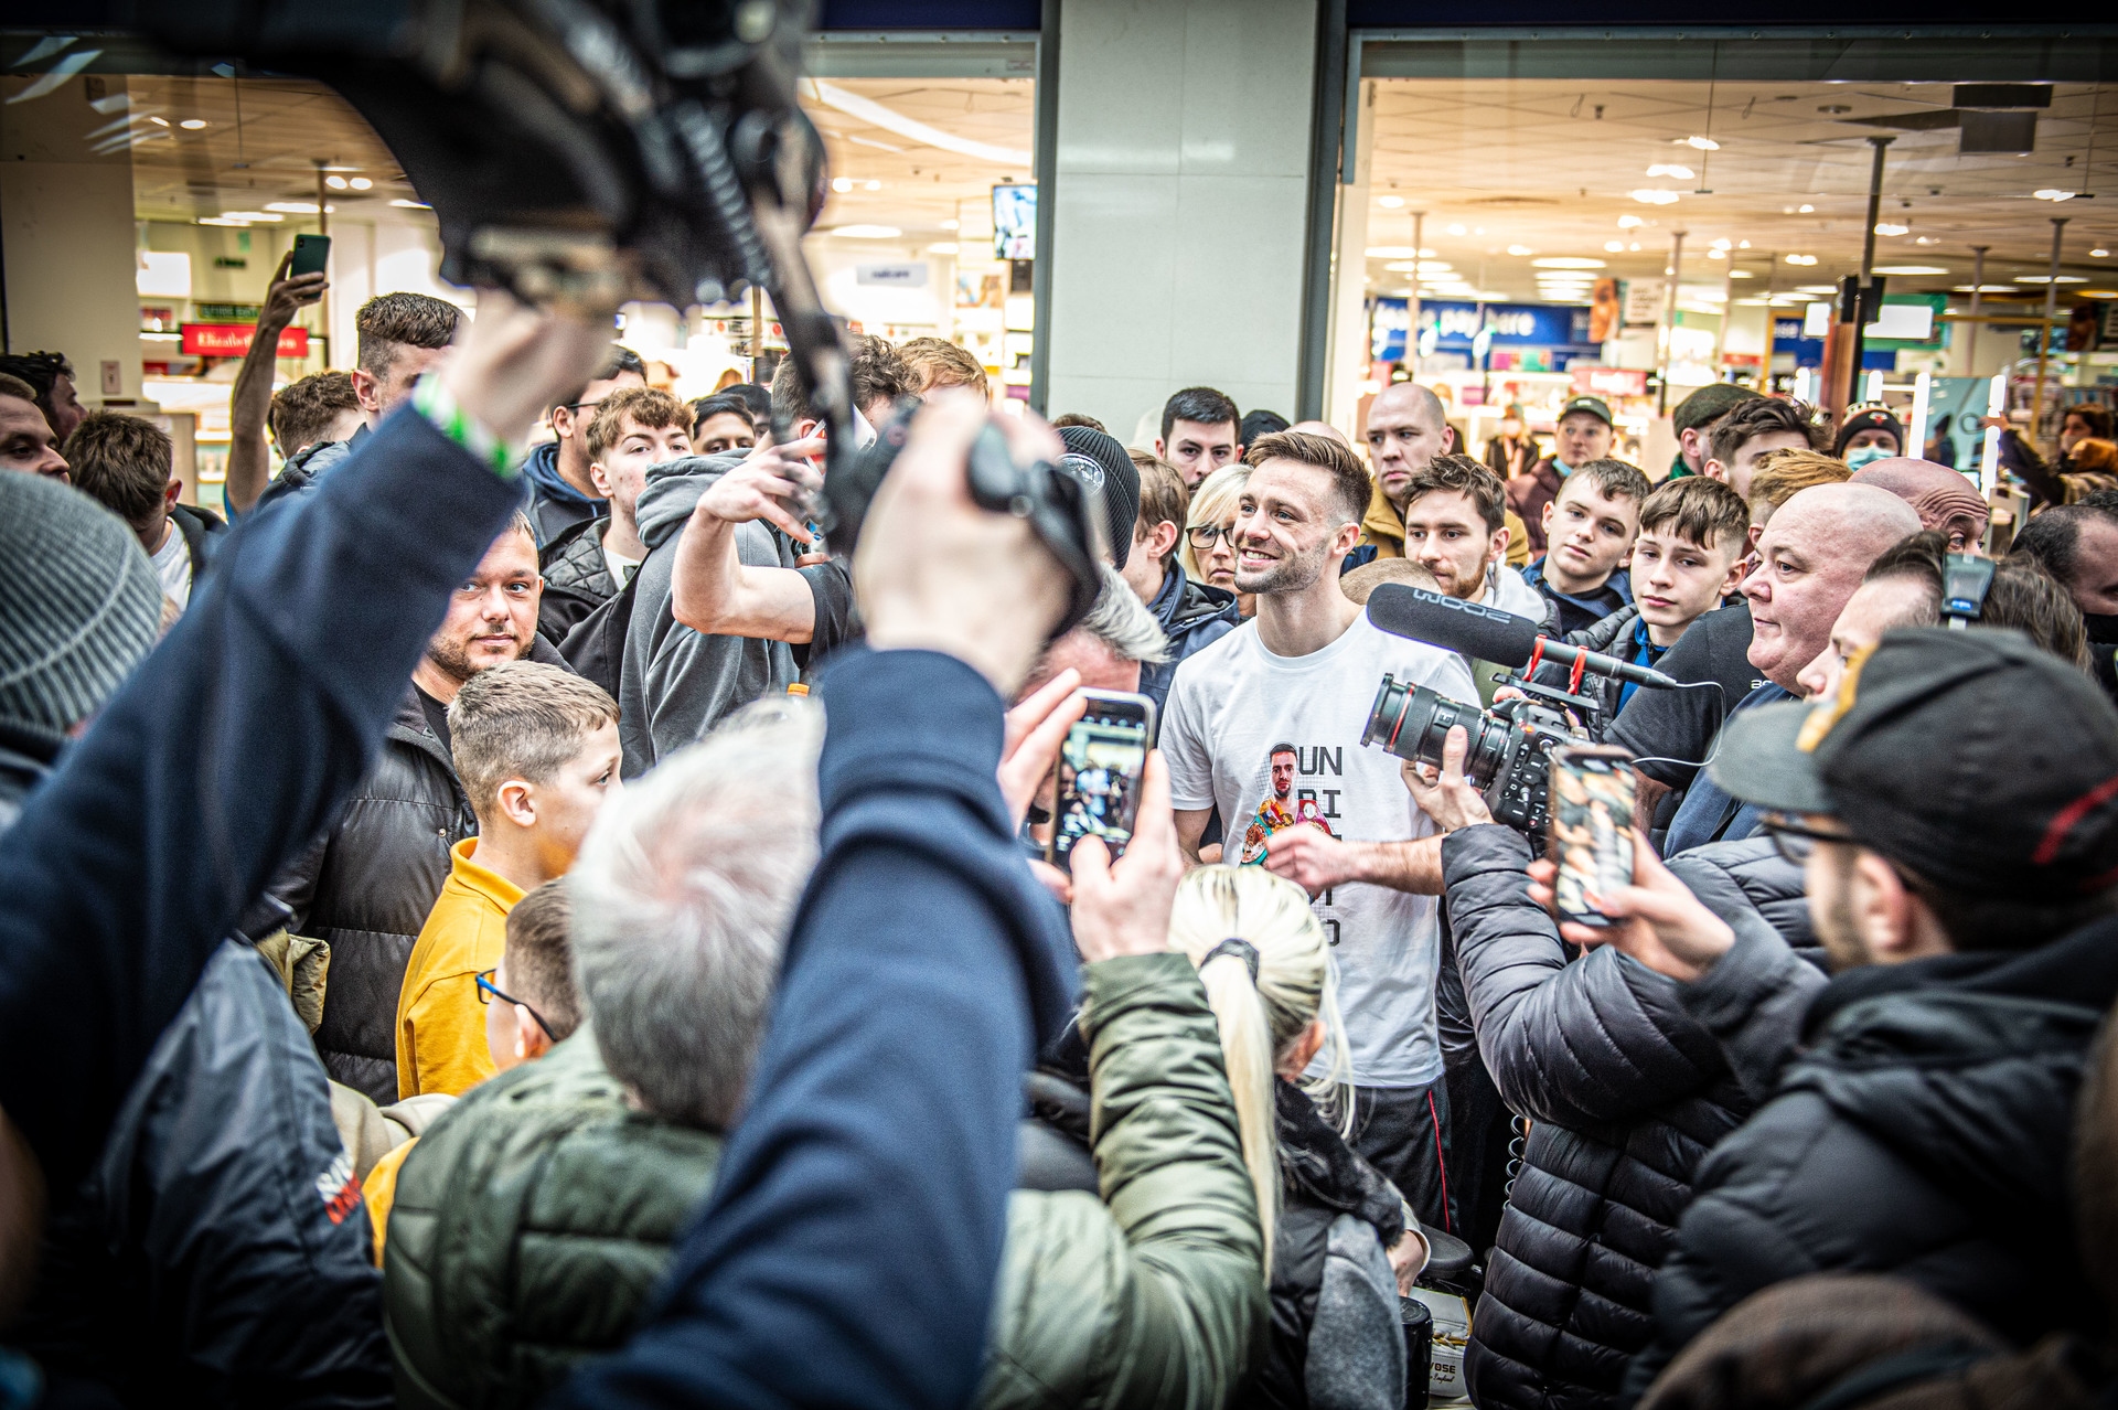
<path id="1" fill-rule="evenodd" d="M 214 946 L 375 760 L 521 489 L 417 411 L 244 517 L 191 610 L 0 843 L 0 1109 L 89 1169 Z"/>

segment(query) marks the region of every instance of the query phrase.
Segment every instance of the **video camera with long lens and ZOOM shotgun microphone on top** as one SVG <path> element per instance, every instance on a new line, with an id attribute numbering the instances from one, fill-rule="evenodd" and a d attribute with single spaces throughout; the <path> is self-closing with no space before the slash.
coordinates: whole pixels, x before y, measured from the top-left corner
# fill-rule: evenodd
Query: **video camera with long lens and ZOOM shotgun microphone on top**
<path id="1" fill-rule="evenodd" d="M 1442 743 L 1449 730 L 1464 726 L 1470 749 L 1464 775 L 1485 792 L 1493 821 L 1504 821 L 1531 838 L 1544 836 L 1550 811 L 1552 749 L 1591 743 L 1597 713 L 1595 699 L 1580 694 L 1582 675 L 1631 680 L 1641 686 L 1673 688 L 1677 682 L 1648 667 L 1588 652 L 1542 635 L 1538 622 L 1497 608 L 1457 601 L 1440 593 L 1385 582 L 1368 597 L 1368 620 L 1379 629 L 1461 652 L 1472 661 L 1523 667 L 1523 675 L 1500 675 L 1502 686 L 1514 686 L 1523 699 L 1500 701 L 1493 709 L 1474 709 L 1425 686 L 1402 686 L 1383 675 L 1362 730 L 1364 745 L 1381 745 L 1398 758 L 1442 764 Z M 1540 686 L 1529 673 L 1544 661 L 1572 665 L 1572 686 L 1559 690 Z M 1567 718 L 1572 711 L 1572 720 Z"/>

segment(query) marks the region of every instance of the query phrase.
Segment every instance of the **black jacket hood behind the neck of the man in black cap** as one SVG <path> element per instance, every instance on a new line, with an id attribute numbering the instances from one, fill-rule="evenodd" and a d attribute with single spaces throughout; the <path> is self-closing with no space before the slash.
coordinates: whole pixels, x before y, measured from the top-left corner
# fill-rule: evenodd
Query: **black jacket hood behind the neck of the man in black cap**
<path id="1" fill-rule="evenodd" d="M 1813 1046 L 1781 1090 L 1815 1092 L 1968 1209 L 2061 1236 L 2074 1103 L 2118 993 L 2118 919 L 2027 955 L 1883 970 L 1817 995 Z"/>

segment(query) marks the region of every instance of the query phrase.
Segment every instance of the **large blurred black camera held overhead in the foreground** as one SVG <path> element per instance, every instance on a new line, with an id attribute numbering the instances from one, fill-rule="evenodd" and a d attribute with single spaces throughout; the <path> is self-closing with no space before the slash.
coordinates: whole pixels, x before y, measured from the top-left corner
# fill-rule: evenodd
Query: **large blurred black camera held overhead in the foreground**
<path id="1" fill-rule="evenodd" d="M 582 309 L 767 290 L 824 423 L 828 481 L 856 449 L 849 358 L 801 250 L 828 191 L 822 138 L 794 91 L 809 8 L 136 0 L 140 25 L 178 53 L 318 78 L 358 108 L 434 207 L 449 284 Z M 792 438 L 790 426 L 773 432 Z M 1099 506 L 1046 493 L 1048 468 L 1015 464 L 998 436 L 983 449 L 974 498 L 1027 519 L 1074 578 L 1065 629 L 1095 599 Z M 881 470 L 890 459 L 894 449 Z M 873 493 L 881 470 L 847 478 Z M 845 504 L 832 495 L 841 519 Z M 832 536 L 832 550 L 849 553 L 849 536 Z"/>

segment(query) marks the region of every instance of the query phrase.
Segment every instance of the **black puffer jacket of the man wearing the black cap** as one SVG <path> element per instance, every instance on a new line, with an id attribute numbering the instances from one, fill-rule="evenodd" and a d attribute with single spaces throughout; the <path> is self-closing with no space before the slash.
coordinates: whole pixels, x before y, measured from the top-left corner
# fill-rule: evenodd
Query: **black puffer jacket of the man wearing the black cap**
<path id="1" fill-rule="evenodd" d="M 1849 970 L 1794 1033 L 1756 1004 L 1775 972 L 1773 938 L 1739 927 L 1684 987 L 1747 1080 L 1775 1048 L 1781 1065 L 1773 1099 L 1699 1167 L 1627 1393 L 1749 1294 L 1811 1272 L 1908 1279 L 2021 1344 L 2099 1336 L 2067 1171 L 2088 1046 L 2118 999 L 2118 919 L 2029 953 Z"/>

